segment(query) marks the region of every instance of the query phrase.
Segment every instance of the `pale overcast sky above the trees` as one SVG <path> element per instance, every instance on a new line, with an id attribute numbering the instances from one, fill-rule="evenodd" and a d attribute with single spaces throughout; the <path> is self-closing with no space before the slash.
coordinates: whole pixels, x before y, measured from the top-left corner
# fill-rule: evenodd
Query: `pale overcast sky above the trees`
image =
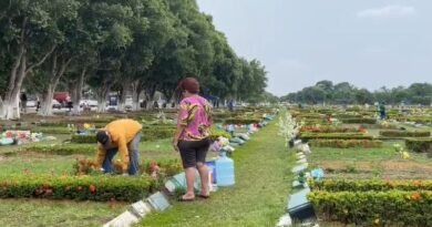
<path id="1" fill-rule="evenodd" d="M 276 95 L 320 80 L 432 83 L 432 0 L 197 0 Z"/>

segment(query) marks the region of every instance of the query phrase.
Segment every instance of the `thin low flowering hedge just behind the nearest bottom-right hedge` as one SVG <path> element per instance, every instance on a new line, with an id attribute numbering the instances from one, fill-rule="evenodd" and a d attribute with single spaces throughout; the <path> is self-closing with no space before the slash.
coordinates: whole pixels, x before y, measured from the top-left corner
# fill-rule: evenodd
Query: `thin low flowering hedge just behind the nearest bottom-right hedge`
<path id="1" fill-rule="evenodd" d="M 310 180 L 308 184 L 313 190 L 327 192 L 432 190 L 432 180 L 326 179 Z"/>

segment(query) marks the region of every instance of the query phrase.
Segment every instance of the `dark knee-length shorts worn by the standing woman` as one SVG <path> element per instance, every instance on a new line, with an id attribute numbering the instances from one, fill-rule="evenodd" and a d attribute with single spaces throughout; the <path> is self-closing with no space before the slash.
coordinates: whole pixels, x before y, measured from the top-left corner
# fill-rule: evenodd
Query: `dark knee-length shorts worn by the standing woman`
<path id="1" fill-rule="evenodd" d="M 202 141 L 179 141 L 178 149 L 182 156 L 183 167 L 195 167 L 197 163 L 205 163 L 210 146 L 210 140 Z"/>

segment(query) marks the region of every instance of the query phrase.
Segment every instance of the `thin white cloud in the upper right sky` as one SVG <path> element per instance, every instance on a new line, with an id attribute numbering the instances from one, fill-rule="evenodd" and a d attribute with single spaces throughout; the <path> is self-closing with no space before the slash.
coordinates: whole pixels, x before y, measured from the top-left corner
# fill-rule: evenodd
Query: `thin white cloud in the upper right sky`
<path id="1" fill-rule="evenodd" d="M 387 6 L 377 9 L 367 9 L 359 11 L 357 17 L 359 18 L 408 18 L 416 14 L 414 7 L 407 6 Z"/>

